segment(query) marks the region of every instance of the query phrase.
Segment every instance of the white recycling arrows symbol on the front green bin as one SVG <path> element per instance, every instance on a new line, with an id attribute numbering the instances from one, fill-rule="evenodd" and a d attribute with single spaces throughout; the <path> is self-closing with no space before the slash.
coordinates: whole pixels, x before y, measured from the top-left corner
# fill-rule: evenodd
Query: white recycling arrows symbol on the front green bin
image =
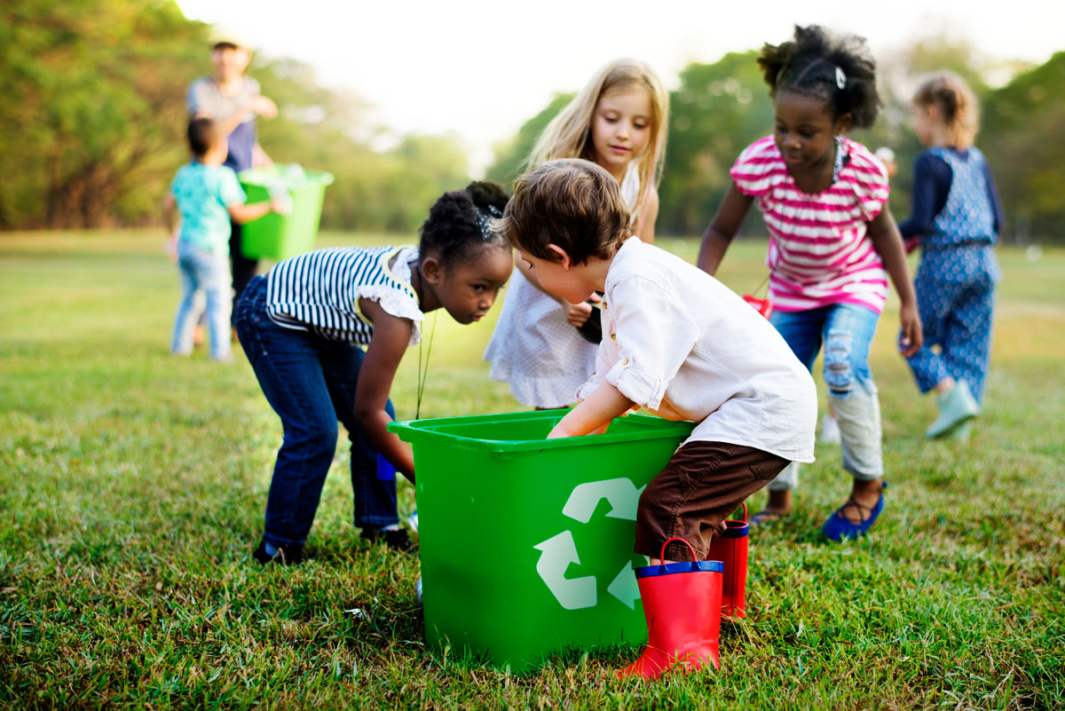
<path id="1" fill-rule="evenodd" d="M 562 514 L 581 524 L 587 524 L 591 520 L 592 513 L 595 512 L 599 502 L 606 499 L 612 507 L 607 512 L 607 517 L 636 520 L 636 505 L 640 500 L 640 493 L 643 489 L 644 486 L 637 489 L 636 484 L 625 478 L 585 482 L 575 486 L 570 493 L 570 498 L 562 507 Z M 580 564 L 577 545 L 571 531 L 562 531 L 532 547 L 541 551 L 540 560 L 536 564 L 536 572 L 559 605 L 567 610 L 595 607 L 599 601 L 595 576 L 566 577 L 566 569 L 571 563 Z M 633 574 L 632 560 L 625 561 L 625 566 L 621 568 L 606 590 L 629 610 L 636 609 L 636 600 L 640 599 L 640 589 L 636 583 L 636 576 Z"/>

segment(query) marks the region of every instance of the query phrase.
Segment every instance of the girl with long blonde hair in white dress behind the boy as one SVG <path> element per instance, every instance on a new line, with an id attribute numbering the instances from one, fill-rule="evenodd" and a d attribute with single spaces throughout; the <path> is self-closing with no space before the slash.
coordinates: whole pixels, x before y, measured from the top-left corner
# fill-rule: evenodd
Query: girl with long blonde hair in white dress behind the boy
<path id="1" fill-rule="evenodd" d="M 635 234 L 651 244 L 668 113 L 669 95 L 657 75 L 642 62 L 616 60 L 551 121 L 526 167 L 559 158 L 597 163 L 621 184 Z M 588 320 L 592 305 L 548 294 L 526 264 L 517 260 L 515 267 L 485 351 L 485 360 L 492 363 L 491 377 L 509 382 L 510 394 L 522 404 L 569 406 L 595 369 L 597 345 L 576 328 Z"/>

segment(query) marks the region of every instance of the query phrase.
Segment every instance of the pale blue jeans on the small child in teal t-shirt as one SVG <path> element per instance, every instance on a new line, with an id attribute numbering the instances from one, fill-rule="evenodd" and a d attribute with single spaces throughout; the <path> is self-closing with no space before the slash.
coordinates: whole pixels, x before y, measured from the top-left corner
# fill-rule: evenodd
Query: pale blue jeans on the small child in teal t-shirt
<path id="1" fill-rule="evenodd" d="M 181 302 L 174 319 L 170 352 L 187 356 L 193 350 L 193 329 L 199 319 L 196 294 L 207 295 L 207 325 L 211 336 L 211 358 L 226 360 L 229 346 L 229 260 L 225 254 L 201 249 L 185 239 L 178 241 L 178 268 L 181 270 Z"/>

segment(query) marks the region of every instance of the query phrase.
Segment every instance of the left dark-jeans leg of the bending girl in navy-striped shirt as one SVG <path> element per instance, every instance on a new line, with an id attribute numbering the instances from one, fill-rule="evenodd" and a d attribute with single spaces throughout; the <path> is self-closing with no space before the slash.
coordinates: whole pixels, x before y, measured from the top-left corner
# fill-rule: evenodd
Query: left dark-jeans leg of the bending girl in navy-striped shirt
<path id="1" fill-rule="evenodd" d="M 236 329 L 263 394 L 284 428 L 266 501 L 263 540 L 279 548 L 300 547 L 314 522 L 337 449 L 337 413 L 318 363 L 321 342 L 269 319 L 263 278 L 248 285 Z"/>

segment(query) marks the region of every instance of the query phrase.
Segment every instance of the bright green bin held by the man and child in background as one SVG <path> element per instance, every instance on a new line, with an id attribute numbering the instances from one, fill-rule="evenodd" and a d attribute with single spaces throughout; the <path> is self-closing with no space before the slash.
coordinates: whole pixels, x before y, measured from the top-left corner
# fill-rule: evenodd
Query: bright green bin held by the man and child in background
<path id="1" fill-rule="evenodd" d="M 314 249 L 322 200 L 333 181 L 332 173 L 275 165 L 243 170 L 239 177 L 248 202 L 269 200 L 272 193 L 282 191 L 292 199 L 289 214 L 272 212 L 244 226 L 241 245 L 245 257 L 281 261 Z"/>

